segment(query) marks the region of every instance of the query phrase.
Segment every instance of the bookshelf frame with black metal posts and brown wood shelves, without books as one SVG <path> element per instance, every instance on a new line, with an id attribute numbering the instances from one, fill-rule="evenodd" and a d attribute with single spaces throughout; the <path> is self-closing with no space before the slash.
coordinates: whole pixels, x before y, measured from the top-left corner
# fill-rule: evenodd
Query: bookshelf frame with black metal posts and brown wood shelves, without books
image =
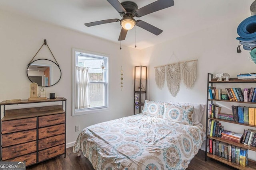
<path id="1" fill-rule="evenodd" d="M 256 152 L 256 147 L 252 147 L 252 146 L 248 146 L 248 145 L 244 145 L 242 143 L 235 143 L 235 142 L 232 142 L 232 141 L 228 141 L 228 140 L 225 140 L 225 139 L 222 139 L 220 137 L 213 137 L 213 136 L 210 136 L 208 135 L 208 121 L 210 119 L 212 120 L 216 120 L 216 121 L 219 121 L 219 122 L 226 122 L 226 123 L 232 123 L 232 124 L 237 124 L 237 125 L 243 125 L 243 126 L 246 126 L 246 127 L 252 127 L 252 128 L 256 128 L 256 125 L 247 125 L 247 124 L 243 124 L 243 123 L 238 123 L 238 122 L 235 122 L 235 121 L 230 121 L 230 120 L 225 120 L 225 119 L 220 119 L 220 118 L 213 118 L 213 117 L 209 117 L 209 104 L 215 104 L 216 102 L 221 102 L 222 104 L 228 104 L 228 102 L 233 102 L 233 103 L 243 103 L 243 104 L 249 104 L 249 105 L 252 105 L 252 107 L 255 107 L 256 106 L 256 103 L 254 102 L 238 102 L 238 101 L 230 101 L 230 100 L 217 100 L 217 99 L 209 99 L 209 87 L 214 87 L 214 86 L 218 86 L 218 84 L 224 84 L 222 86 L 225 86 L 226 88 L 231 88 L 232 84 L 236 84 L 236 83 L 239 83 L 239 84 L 244 84 L 244 83 L 254 83 L 256 84 L 256 80 L 238 80 L 237 78 L 230 78 L 229 81 L 217 81 L 216 79 L 213 79 L 213 74 L 211 73 L 208 73 L 208 77 L 207 77 L 207 102 L 206 102 L 206 152 L 205 152 L 205 161 L 207 161 L 207 158 L 212 158 L 214 160 L 217 160 L 219 162 L 222 162 L 224 164 L 227 164 L 229 166 L 232 166 L 234 168 L 237 168 L 239 170 L 256 170 L 256 161 L 254 160 L 250 160 L 248 159 L 248 165 L 246 167 L 243 167 L 243 166 L 240 166 L 236 163 L 233 163 L 233 162 L 230 162 L 228 161 L 227 159 L 225 158 L 222 158 L 220 156 L 217 156 L 217 155 L 214 155 L 210 152 L 208 152 L 208 147 L 209 147 L 209 140 L 208 139 L 213 139 L 213 140 L 216 140 L 216 141 L 220 141 L 220 142 L 224 142 L 224 143 L 228 143 L 228 144 L 231 144 L 231 145 L 235 145 L 237 147 L 241 147 L 241 148 L 244 148 L 244 149 L 248 149 L 248 150 L 252 150 L 254 152 Z M 224 92 L 226 93 L 226 92 Z"/>

